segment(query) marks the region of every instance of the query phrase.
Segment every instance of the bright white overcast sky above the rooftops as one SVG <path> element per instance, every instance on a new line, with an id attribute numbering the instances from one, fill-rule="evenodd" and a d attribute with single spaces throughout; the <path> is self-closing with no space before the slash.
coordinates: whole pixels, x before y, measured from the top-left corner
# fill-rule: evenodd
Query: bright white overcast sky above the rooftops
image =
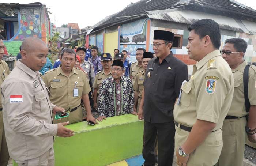
<path id="1" fill-rule="evenodd" d="M 38 0 L 39 1 L 39 0 Z M 56 20 L 56 27 L 67 23 L 78 23 L 79 28 L 93 26 L 106 16 L 114 14 L 132 2 L 139 0 L 74 0 L 74 1 L 57 1 L 41 0 L 42 4 L 50 8 L 49 14 L 51 22 Z M 236 0 L 248 7 L 256 10 L 256 0 Z M 36 0 L 1 0 L 1 3 L 33 3 Z"/>

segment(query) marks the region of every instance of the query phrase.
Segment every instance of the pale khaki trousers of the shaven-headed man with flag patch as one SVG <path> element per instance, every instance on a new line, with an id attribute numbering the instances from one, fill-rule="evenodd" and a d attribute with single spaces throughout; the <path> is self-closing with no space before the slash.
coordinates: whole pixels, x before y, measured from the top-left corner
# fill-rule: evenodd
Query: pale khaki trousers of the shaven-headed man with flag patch
<path id="1" fill-rule="evenodd" d="M 18 166 L 54 166 L 53 147 L 37 158 L 26 160 L 26 161 L 15 161 L 15 162 L 18 163 Z"/>

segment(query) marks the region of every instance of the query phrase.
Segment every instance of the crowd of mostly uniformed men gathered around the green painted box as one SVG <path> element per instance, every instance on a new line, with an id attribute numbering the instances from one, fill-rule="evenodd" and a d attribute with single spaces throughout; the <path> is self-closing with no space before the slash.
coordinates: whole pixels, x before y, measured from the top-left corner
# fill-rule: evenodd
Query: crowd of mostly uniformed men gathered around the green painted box
<path id="1" fill-rule="evenodd" d="M 244 60 L 247 43 L 227 39 L 220 51 L 219 25 L 210 19 L 188 30 L 188 56 L 197 61 L 189 79 L 170 31 L 155 30 L 154 53 L 138 48 L 133 63 L 127 50 L 98 56 L 97 46 L 63 45 L 46 70 L 52 45 L 25 38 L 11 72 L 0 61 L 0 165 L 10 155 L 19 166 L 53 166 L 53 136 L 74 135 L 65 125 L 133 114 L 144 120 L 144 166 L 171 166 L 174 152 L 179 166 L 242 166 L 245 140 L 256 143 L 256 66 Z"/>

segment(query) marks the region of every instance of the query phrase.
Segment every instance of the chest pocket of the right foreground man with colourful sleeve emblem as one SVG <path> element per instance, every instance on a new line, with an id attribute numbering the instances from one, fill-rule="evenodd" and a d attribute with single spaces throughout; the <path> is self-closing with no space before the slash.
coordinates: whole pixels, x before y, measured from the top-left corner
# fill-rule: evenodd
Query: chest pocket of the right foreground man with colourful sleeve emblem
<path id="1" fill-rule="evenodd" d="M 184 105 L 185 107 L 190 106 L 191 89 L 192 89 L 192 86 L 189 83 L 186 83 L 181 87 L 182 93 L 181 93 L 180 103 L 181 103 L 181 105 Z"/>

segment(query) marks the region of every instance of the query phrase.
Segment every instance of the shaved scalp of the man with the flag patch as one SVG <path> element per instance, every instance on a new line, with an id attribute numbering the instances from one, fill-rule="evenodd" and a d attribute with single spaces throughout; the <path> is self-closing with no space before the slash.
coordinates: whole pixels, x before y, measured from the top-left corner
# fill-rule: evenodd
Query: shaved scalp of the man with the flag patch
<path id="1" fill-rule="evenodd" d="M 20 47 L 22 50 L 25 50 L 27 53 L 37 48 L 42 48 L 42 47 L 47 48 L 45 42 L 43 42 L 41 39 L 37 37 L 25 38 Z"/>

